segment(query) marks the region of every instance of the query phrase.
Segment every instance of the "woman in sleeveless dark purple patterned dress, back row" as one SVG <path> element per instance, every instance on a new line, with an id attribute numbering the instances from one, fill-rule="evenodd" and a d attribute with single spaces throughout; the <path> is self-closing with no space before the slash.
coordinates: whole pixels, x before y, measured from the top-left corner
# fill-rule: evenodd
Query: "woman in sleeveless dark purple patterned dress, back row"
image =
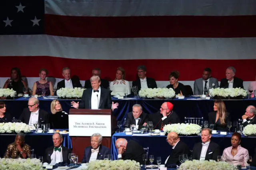
<path id="1" fill-rule="evenodd" d="M 32 95 L 43 95 L 43 96 L 53 96 L 53 86 L 52 82 L 46 80 L 48 71 L 46 69 L 40 69 L 39 77 L 40 80 L 36 81 L 33 85 Z"/>

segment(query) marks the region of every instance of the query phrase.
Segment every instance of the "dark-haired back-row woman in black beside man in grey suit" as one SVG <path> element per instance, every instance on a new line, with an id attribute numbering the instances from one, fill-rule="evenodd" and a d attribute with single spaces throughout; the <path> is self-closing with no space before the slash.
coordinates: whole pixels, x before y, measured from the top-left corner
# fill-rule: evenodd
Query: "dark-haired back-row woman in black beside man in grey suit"
<path id="1" fill-rule="evenodd" d="M 178 71 L 172 71 L 169 75 L 170 85 L 168 85 L 166 88 L 174 89 L 176 95 L 185 95 L 184 84 L 178 82 L 179 77 L 180 73 Z"/>

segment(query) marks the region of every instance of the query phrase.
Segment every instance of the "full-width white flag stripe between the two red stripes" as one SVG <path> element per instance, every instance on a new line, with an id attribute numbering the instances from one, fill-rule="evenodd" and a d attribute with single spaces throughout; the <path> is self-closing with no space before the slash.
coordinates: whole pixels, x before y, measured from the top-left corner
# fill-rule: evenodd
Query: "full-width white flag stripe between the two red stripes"
<path id="1" fill-rule="evenodd" d="M 72 59 L 256 59 L 256 38 L 0 36 L 0 56 Z M 8 49 L 8 50 L 6 50 Z"/>

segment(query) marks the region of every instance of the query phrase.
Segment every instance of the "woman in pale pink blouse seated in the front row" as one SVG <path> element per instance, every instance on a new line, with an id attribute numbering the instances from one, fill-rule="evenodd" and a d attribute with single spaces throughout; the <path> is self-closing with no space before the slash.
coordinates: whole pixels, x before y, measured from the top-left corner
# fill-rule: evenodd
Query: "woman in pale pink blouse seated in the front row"
<path id="1" fill-rule="evenodd" d="M 234 132 L 231 137 L 232 146 L 225 148 L 222 154 L 222 161 L 226 161 L 234 166 L 249 166 L 247 159 L 249 158 L 248 150 L 243 148 L 241 143 L 241 134 Z"/>

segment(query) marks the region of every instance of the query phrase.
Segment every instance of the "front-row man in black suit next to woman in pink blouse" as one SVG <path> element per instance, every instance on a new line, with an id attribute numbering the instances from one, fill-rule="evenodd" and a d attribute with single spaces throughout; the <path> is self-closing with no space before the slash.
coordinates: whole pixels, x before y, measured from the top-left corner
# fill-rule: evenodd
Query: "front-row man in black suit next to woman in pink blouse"
<path id="1" fill-rule="evenodd" d="M 217 160 L 220 153 L 220 146 L 211 141 L 212 130 L 203 128 L 201 131 L 202 142 L 194 145 L 192 152 L 192 160 Z"/>

